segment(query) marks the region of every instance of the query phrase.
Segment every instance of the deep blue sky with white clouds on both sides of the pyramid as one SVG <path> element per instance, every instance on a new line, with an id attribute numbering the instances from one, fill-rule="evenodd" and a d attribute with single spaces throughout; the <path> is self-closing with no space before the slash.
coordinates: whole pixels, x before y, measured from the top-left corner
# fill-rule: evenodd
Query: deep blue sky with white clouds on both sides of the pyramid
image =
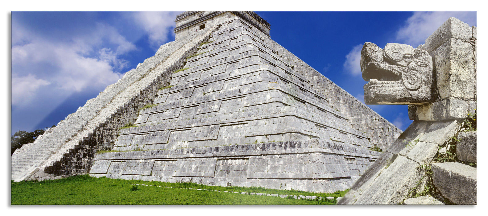
<path id="1" fill-rule="evenodd" d="M 11 12 L 11 134 L 56 125 L 119 80 L 160 45 L 174 41 L 163 12 Z M 256 11 L 271 39 L 363 101 L 363 43 L 417 47 L 448 17 L 477 26 L 476 12 Z M 402 130 L 403 105 L 369 106 Z"/>

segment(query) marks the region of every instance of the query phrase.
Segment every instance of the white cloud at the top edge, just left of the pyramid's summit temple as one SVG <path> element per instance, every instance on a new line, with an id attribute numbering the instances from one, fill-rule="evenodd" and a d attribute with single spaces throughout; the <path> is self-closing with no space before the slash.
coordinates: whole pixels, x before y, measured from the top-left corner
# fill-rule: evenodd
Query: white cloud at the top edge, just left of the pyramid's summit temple
<path id="1" fill-rule="evenodd" d="M 149 36 L 149 43 L 159 48 L 168 38 L 168 32 L 175 27 L 176 15 L 181 11 L 142 11 L 134 13 L 133 18 Z"/>

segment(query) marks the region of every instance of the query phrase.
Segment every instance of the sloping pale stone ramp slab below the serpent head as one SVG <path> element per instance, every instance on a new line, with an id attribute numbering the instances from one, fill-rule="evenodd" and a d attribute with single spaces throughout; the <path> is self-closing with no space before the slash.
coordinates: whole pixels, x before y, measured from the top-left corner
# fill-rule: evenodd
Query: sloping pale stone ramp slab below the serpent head
<path id="1" fill-rule="evenodd" d="M 395 205 L 408 191 L 425 184 L 425 171 L 440 145 L 451 137 L 456 121 L 414 121 L 351 187 L 339 205 Z M 436 132 L 437 131 L 437 132 Z M 437 135 L 436 135 L 437 134 Z M 407 138 L 408 137 L 408 138 Z M 406 142 L 405 142 L 406 141 Z"/>

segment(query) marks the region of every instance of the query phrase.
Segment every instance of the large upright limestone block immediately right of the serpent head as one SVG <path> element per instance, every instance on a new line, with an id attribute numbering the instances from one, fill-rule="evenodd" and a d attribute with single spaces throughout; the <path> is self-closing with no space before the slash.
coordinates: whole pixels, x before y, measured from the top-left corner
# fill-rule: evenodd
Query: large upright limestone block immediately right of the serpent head
<path id="1" fill-rule="evenodd" d="M 476 80 L 473 46 L 469 40 L 449 39 L 435 50 L 435 72 L 441 99 L 474 98 Z"/>

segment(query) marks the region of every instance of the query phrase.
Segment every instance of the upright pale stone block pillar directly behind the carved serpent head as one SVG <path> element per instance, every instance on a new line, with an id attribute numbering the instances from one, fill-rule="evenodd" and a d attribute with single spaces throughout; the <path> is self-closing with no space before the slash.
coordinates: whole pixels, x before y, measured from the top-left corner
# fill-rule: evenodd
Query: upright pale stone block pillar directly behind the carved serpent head
<path id="1" fill-rule="evenodd" d="M 449 18 L 426 43 L 434 65 L 434 101 L 423 106 L 410 105 L 411 120 L 438 121 L 464 119 L 474 113 L 477 101 L 477 28 Z"/>

